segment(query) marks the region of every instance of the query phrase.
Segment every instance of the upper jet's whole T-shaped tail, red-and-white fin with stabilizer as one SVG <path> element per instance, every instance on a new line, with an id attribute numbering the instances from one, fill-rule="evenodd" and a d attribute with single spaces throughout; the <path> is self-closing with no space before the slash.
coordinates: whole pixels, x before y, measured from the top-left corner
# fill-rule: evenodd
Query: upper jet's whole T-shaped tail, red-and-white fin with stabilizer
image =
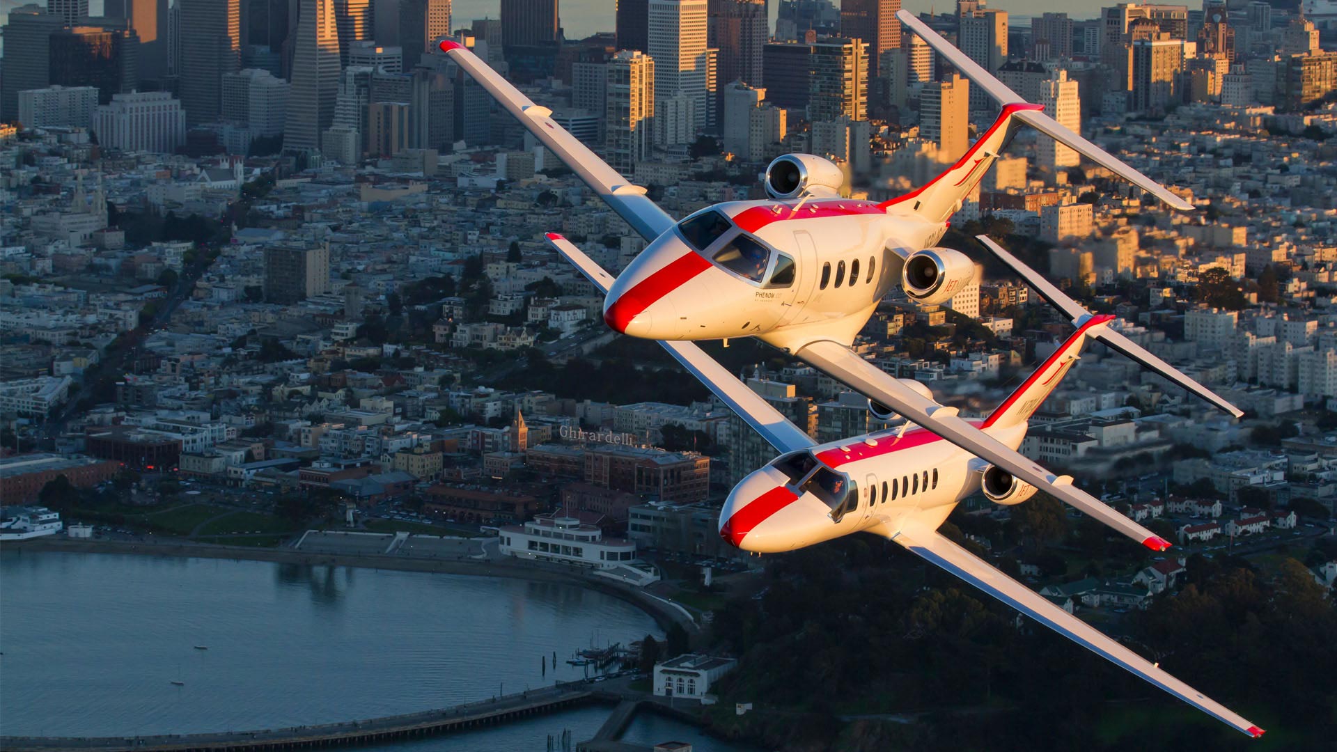
<path id="1" fill-rule="evenodd" d="M 1193 209 L 1193 203 L 1179 198 L 1163 185 L 1134 170 L 1115 155 L 1044 114 L 1042 106 L 1028 103 L 1021 95 L 995 78 L 993 74 L 967 56 L 965 52 L 961 52 L 951 41 L 943 39 L 941 35 L 929 28 L 928 24 L 919 20 L 915 13 L 902 9 L 897 11 L 896 17 L 961 71 L 961 75 L 968 78 L 972 86 L 980 87 L 980 90 L 997 100 L 1003 106 L 1003 112 L 959 162 L 920 189 L 884 202 L 884 209 L 908 211 L 935 223 L 945 222 L 961 206 L 965 197 L 975 190 L 984 173 L 997 159 L 999 151 L 1007 145 L 1021 123 L 1071 147 L 1087 159 L 1106 167 L 1167 205 L 1183 211 Z"/>

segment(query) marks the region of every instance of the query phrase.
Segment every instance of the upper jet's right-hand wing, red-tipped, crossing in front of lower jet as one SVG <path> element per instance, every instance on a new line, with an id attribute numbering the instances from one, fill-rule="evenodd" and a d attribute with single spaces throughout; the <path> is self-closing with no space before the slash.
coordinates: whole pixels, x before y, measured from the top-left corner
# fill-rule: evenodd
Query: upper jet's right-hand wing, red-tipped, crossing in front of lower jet
<path id="1" fill-rule="evenodd" d="M 1060 502 L 1094 516 L 1143 546 L 1154 551 L 1170 547 L 1170 542 L 1165 538 L 1074 486 L 1071 475 L 1054 475 L 1034 460 L 1027 459 L 1021 452 L 960 417 L 955 407 L 941 405 L 910 389 L 845 345 L 822 340 L 805 345 L 796 355 L 846 387 L 889 407 L 910 423 L 999 466 L 1015 478 L 1025 480 Z"/>

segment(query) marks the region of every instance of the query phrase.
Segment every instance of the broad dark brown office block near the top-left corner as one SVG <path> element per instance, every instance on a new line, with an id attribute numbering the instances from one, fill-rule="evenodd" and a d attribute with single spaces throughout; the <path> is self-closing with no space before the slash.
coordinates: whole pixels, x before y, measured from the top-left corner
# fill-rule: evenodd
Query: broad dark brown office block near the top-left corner
<path id="1" fill-rule="evenodd" d="M 95 86 L 99 103 L 139 88 L 139 40 L 134 29 L 66 27 L 51 35 L 51 83 Z"/>

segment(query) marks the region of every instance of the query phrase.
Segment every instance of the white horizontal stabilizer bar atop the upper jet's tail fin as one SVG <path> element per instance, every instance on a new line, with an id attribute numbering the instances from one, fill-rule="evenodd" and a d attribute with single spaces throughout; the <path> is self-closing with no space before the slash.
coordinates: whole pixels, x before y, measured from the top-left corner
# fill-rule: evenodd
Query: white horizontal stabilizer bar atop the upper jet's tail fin
<path id="1" fill-rule="evenodd" d="M 1025 102 L 1015 91 L 1008 88 L 1007 84 L 1004 84 L 1003 82 L 996 79 L 992 74 L 989 74 L 987 70 L 984 70 L 983 66 L 980 66 L 969 56 L 967 56 L 965 52 L 957 50 L 951 41 L 943 39 L 941 35 L 929 28 L 928 24 L 919 20 L 919 17 L 916 17 L 915 13 L 901 9 L 896 12 L 896 17 L 902 24 L 905 24 L 910 31 L 919 35 L 920 39 L 927 41 L 929 47 L 932 47 L 939 55 L 947 58 L 947 60 L 952 63 L 952 66 L 955 66 L 959 71 L 961 71 L 961 74 L 965 78 L 971 79 L 972 86 L 980 87 L 985 94 L 997 100 L 999 104 L 1003 104 L 1004 115 L 1007 115 L 1009 107 L 1015 107 L 1016 103 Z M 1078 151 L 1087 159 L 1091 159 L 1096 165 L 1100 165 L 1102 167 L 1110 170 L 1111 173 L 1119 175 L 1120 178 L 1128 181 L 1130 183 L 1155 195 L 1157 198 L 1169 203 L 1170 206 L 1179 209 L 1182 211 L 1189 211 L 1193 209 L 1191 203 L 1170 193 L 1170 190 L 1166 189 L 1163 185 L 1134 170 L 1132 167 L 1123 163 L 1120 159 L 1118 159 L 1108 151 L 1082 138 L 1079 134 L 1072 132 L 1071 128 L 1059 123 L 1058 120 L 1046 115 L 1044 112 L 1040 112 L 1040 107 L 1025 107 L 1023 110 L 1015 111 L 1013 115 L 1019 122 L 1027 123 L 1028 126 L 1036 128 L 1038 131 L 1052 138 L 1054 140 L 1071 147 L 1074 151 Z M 1000 116 L 999 120 L 1001 122 L 1003 118 Z M 995 123 L 995 127 L 997 127 L 997 123 Z M 993 128 L 989 130 L 992 131 Z M 984 139 L 981 138 L 980 140 Z M 948 170 L 948 173 L 951 173 L 951 170 Z M 939 181 L 943 177 L 939 177 Z M 971 187 L 973 187 L 973 183 Z M 964 195 L 964 193 L 961 195 Z"/>

